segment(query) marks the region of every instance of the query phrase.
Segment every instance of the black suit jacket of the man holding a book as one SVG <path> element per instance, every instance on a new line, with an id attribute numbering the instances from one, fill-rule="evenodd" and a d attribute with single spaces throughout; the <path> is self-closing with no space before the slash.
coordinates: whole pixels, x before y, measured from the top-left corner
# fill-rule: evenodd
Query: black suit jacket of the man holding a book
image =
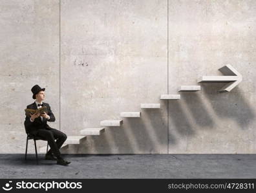
<path id="1" fill-rule="evenodd" d="M 41 116 L 35 118 L 34 122 L 30 122 L 30 116 L 26 116 L 25 118 L 25 129 L 26 133 L 32 133 L 36 134 L 38 129 L 52 129 L 47 122 L 54 122 L 55 121 L 55 116 L 52 113 L 52 110 L 50 109 L 50 106 L 48 103 L 43 102 L 43 106 L 47 107 L 47 112 L 48 115 L 50 116 L 50 119 L 47 120 L 46 118 L 43 118 L 43 122 L 41 120 Z M 27 106 L 27 109 L 37 109 L 36 102 L 30 104 Z"/>

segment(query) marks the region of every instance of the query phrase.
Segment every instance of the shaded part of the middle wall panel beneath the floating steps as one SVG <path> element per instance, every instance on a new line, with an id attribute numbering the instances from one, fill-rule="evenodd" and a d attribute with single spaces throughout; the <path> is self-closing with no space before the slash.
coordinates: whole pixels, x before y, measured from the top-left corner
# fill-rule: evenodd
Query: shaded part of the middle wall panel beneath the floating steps
<path id="1" fill-rule="evenodd" d="M 87 136 L 78 149 L 70 145 L 63 153 L 167 153 L 167 114 L 164 113 L 167 109 L 141 109 L 141 112 L 140 118 L 122 118 L 120 127 L 105 127 L 100 136 Z"/>

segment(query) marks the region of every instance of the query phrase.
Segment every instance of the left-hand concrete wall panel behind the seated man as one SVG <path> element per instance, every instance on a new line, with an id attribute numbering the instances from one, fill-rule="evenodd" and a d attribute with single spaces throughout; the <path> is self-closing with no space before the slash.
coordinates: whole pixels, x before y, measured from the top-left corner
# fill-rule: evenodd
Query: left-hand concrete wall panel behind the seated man
<path id="1" fill-rule="evenodd" d="M 59 1 L 0 1 L 1 153 L 25 152 L 31 88 L 45 87 L 59 129 Z M 45 145 L 46 142 L 39 142 Z M 32 140 L 29 152 L 34 152 Z"/>

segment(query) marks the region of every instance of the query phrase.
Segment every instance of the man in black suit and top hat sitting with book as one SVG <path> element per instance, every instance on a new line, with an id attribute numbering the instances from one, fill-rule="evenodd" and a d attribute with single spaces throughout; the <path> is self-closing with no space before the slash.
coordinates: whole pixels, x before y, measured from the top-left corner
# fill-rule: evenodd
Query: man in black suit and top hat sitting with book
<path id="1" fill-rule="evenodd" d="M 30 105 L 27 106 L 27 109 L 39 109 L 40 107 L 47 107 L 46 112 L 42 113 L 34 113 L 31 116 L 26 116 L 25 118 L 25 129 L 27 133 L 34 134 L 35 136 L 41 136 L 45 139 L 47 139 L 48 144 L 50 145 L 50 150 L 45 155 L 45 160 L 57 160 L 57 164 L 59 165 L 68 165 L 70 161 L 63 160 L 61 157 L 61 153 L 59 149 L 61 148 L 61 145 L 67 140 L 67 135 L 57 129 L 51 128 L 47 122 L 54 122 L 55 117 L 52 113 L 50 106 L 48 103 L 42 102 L 45 100 L 45 88 L 41 88 L 37 84 L 32 87 L 31 89 L 33 96 L 33 99 L 36 99 L 36 101 Z M 48 113 L 48 115 L 47 115 Z M 55 139 L 56 142 L 55 142 Z M 54 158 L 54 156 L 56 158 Z"/>

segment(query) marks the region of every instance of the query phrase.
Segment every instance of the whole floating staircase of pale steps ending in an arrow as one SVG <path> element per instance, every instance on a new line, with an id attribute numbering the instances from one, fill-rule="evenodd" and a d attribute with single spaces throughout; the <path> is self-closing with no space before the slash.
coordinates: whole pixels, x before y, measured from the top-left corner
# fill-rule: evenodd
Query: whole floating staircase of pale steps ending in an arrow
<path id="1" fill-rule="evenodd" d="M 220 93 L 229 92 L 233 89 L 237 84 L 242 81 L 242 75 L 238 71 L 236 71 L 230 64 L 219 69 L 225 76 L 203 76 L 198 79 L 200 83 L 211 83 L 211 82 L 228 82 L 226 86 L 224 86 Z M 193 86 L 180 86 L 178 92 L 197 92 L 201 90 L 201 86 L 193 85 Z M 180 100 L 180 95 L 169 95 L 163 94 L 160 95 L 160 100 Z M 160 103 L 144 103 L 140 104 L 141 109 L 160 109 Z M 120 117 L 125 118 L 140 118 L 140 111 L 132 111 L 132 112 L 122 112 L 120 113 Z M 96 128 L 85 128 L 80 131 L 80 135 L 78 136 L 68 136 L 66 142 L 62 145 L 62 148 L 68 148 L 69 144 L 80 144 L 81 140 L 85 140 L 87 136 L 91 135 L 100 135 L 105 132 L 105 127 L 120 127 L 123 124 L 122 119 L 114 119 L 114 120 L 102 120 L 100 122 L 101 127 Z M 45 153 L 47 146 L 41 147 L 39 152 Z"/>

